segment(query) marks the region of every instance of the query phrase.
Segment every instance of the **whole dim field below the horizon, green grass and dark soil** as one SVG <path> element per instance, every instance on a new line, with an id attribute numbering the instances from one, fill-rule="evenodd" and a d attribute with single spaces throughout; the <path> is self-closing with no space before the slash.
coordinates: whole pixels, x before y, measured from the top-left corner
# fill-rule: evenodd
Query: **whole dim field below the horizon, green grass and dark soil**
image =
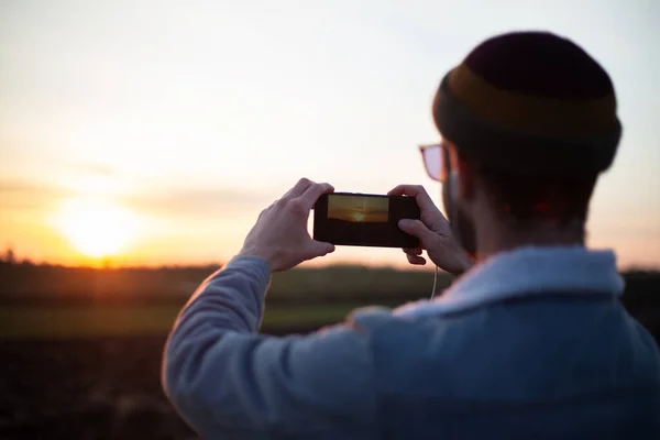
<path id="1" fill-rule="evenodd" d="M 161 356 L 210 272 L 0 264 L 0 439 L 195 439 L 163 395 Z M 660 274 L 626 280 L 624 304 L 660 341 Z M 418 299 L 431 284 L 428 272 L 293 271 L 273 279 L 262 330 L 305 333 L 355 307 Z"/>

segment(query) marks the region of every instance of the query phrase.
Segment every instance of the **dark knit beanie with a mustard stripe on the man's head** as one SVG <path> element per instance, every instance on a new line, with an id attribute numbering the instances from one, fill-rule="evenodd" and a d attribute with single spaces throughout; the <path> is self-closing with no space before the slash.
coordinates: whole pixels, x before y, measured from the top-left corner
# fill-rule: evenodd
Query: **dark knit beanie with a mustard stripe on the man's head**
<path id="1" fill-rule="evenodd" d="M 461 156 L 516 175 L 596 175 L 612 165 L 622 136 L 607 73 L 547 32 L 480 44 L 444 76 L 432 111 Z"/>

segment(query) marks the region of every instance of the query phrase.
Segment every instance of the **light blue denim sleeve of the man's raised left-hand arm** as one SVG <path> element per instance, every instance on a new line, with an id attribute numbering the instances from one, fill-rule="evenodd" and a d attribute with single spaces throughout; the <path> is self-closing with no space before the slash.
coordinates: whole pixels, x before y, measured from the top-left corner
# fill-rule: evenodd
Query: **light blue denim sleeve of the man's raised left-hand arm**
<path id="1" fill-rule="evenodd" d="M 374 436 L 369 336 L 352 326 L 307 337 L 257 334 L 270 274 L 238 257 L 184 308 L 165 349 L 163 382 L 177 411 L 207 438 Z"/>

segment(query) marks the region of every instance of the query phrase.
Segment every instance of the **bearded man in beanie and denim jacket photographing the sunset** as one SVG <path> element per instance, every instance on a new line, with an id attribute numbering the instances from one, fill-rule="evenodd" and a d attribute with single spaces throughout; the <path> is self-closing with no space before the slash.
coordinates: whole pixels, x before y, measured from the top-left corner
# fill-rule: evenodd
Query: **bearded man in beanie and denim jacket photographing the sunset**
<path id="1" fill-rule="evenodd" d="M 424 153 L 449 223 L 421 187 L 392 193 L 421 208 L 400 228 L 462 275 L 432 301 L 257 334 L 271 274 L 333 251 L 306 230 L 332 187 L 298 182 L 170 334 L 165 389 L 202 436 L 660 438 L 658 349 L 618 300 L 615 255 L 584 246 L 622 132 L 605 70 L 556 35 L 501 35 L 444 77 L 433 119 L 443 141 Z"/>

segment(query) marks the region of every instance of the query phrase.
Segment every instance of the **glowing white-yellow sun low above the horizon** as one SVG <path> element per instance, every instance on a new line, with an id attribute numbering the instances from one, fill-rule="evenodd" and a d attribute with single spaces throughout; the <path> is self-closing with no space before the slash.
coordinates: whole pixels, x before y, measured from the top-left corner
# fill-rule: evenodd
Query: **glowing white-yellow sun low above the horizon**
<path id="1" fill-rule="evenodd" d="M 62 204 L 57 228 L 81 254 L 99 258 L 117 255 L 134 239 L 133 212 L 111 202 L 77 198 Z"/>

